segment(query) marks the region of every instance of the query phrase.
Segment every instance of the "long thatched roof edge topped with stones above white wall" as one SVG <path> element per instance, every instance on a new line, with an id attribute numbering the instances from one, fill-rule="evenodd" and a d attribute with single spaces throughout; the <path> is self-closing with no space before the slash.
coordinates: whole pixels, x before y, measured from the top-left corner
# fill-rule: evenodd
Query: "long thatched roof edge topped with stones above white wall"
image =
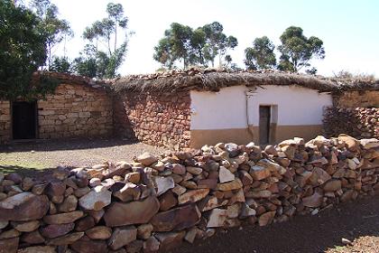
<path id="1" fill-rule="evenodd" d="M 379 81 L 348 83 L 344 80 L 328 79 L 299 73 L 278 70 L 171 70 L 149 75 L 130 75 L 113 83 L 116 92 L 177 92 L 183 90 L 218 91 L 219 89 L 245 85 L 247 87 L 263 85 L 300 86 L 317 89 L 319 92 L 376 89 Z"/>

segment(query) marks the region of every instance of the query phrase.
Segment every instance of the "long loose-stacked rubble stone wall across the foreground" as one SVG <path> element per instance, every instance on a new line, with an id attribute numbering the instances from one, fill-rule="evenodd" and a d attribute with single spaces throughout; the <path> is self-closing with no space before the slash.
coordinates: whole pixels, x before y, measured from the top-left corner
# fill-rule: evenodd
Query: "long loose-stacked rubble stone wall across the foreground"
<path id="1" fill-rule="evenodd" d="M 379 192 L 379 141 L 217 144 L 133 163 L 0 173 L 0 252 L 157 252 Z M 17 251 L 19 250 L 19 251 Z"/>

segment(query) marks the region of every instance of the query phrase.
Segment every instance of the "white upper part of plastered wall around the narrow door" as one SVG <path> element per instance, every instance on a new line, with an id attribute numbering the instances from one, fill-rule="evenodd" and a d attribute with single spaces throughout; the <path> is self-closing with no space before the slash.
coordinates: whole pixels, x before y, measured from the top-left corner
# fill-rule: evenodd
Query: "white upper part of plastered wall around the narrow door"
<path id="1" fill-rule="evenodd" d="M 267 85 L 254 91 L 242 85 L 218 92 L 192 90 L 190 98 L 192 130 L 258 126 L 260 105 L 277 106 L 278 126 L 321 125 L 323 108 L 332 105 L 331 95 L 299 86 Z"/>

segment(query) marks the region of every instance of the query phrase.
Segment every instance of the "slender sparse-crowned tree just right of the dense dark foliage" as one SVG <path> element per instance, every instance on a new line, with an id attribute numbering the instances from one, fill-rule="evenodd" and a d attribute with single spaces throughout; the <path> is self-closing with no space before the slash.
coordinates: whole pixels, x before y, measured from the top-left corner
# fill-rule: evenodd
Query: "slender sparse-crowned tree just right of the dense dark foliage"
<path id="1" fill-rule="evenodd" d="M 73 36 L 69 22 L 58 17 L 58 7 L 51 4 L 50 0 L 32 0 L 32 10 L 41 18 L 41 30 L 47 37 L 46 47 L 48 52 L 47 67 L 50 70 L 52 64 L 52 50 L 66 38 Z"/>

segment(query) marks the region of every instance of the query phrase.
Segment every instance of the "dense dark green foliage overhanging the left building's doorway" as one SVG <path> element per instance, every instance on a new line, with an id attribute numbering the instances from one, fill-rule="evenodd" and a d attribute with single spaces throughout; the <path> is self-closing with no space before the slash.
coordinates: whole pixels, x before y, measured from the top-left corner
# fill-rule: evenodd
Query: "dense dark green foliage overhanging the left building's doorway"
<path id="1" fill-rule="evenodd" d="M 56 80 L 42 75 L 31 85 L 32 74 L 46 61 L 42 21 L 23 5 L 0 1 L 0 98 L 36 98 L 52 92 Z"/>

